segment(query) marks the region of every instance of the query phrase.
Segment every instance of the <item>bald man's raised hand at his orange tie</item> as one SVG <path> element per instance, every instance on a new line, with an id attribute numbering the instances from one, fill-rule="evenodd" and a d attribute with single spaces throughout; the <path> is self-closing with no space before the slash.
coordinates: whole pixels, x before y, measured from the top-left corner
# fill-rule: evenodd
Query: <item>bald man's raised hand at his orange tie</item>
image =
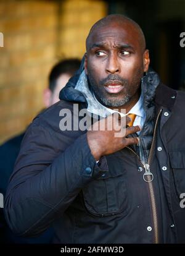
<path id="1" fill-rule="evenodd" d="M 122 117 L 125 118 L 125 117 Z M 130 118 L 126 116 L 126 124 L 130 122 Z M 99 160 L 103 155 L 109 155 L 122 148 L 125 148 L 131 144 L 138 144 L 137 138 L 126 138 L 128 134 L 134 134 L 140 129 L 139 126 L 121 127 L 121 121 L 115 118 L 114 115 L 110 115 L 100 121 L 95 122 L 91 126 L 91 130 L 87 132 L 88 144 L 91 149 L 91 153 L 96 160 Z M 104 130 L 100 127 L 105 127 Z M 108 130 L 107 127 L 112 127 L 112 130 Z M 115 134 L 120 132 L 119 137 Z M 123 136 L 120 136 L 123 134 Z"/>

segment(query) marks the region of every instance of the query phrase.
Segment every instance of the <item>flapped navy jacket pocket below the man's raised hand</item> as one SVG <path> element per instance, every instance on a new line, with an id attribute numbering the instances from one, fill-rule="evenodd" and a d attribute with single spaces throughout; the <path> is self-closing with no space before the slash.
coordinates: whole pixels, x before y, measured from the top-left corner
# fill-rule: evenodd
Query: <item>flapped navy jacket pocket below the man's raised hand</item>
<path id="1" fill-rule="evenodd" d="M 92 215 L 109 216 L 125 211 L 128 205 L 125 170 L 110 168 L 104 176 L 94 179 L 83 188 L 86 210 Z"/>

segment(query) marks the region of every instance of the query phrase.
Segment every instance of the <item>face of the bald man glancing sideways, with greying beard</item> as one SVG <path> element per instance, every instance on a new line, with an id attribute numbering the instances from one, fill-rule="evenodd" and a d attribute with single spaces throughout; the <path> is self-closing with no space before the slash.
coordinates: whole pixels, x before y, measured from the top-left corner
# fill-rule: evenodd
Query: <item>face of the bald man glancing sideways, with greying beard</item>
<path id="1" fill-rule="evenodd" d="M 92 32 L 85 70 L 97 99 L 118 107 L 138 96 L 141 78 L 149 66 L 136 28 L 130 23 L 111 23 Z"/>

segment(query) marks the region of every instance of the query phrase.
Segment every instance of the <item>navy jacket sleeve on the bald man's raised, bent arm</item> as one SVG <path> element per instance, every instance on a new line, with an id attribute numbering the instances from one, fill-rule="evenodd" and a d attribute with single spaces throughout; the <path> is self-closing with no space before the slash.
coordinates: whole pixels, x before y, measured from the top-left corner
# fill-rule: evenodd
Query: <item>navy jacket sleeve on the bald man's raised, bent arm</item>
<path id="1" fill-rule="evenodd" d="M 43 232 L 61 218 L 82 187 L 106 171 L 106 158 L 97 166 L 86 134 L 71 139 L 61 132 L 57 137 L 33 122 L 7 188 L 4 213 L 10 229 L 19 236 Z"/>

